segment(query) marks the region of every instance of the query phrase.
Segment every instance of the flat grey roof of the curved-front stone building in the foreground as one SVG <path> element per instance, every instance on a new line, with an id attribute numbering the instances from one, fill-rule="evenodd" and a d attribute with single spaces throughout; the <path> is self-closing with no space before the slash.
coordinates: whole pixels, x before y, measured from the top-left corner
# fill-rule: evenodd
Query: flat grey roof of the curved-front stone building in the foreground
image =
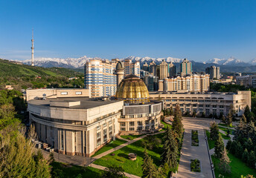
<path id="1" fill-rule="evenodd" d="M 77 102 L 80 101 L 80 105 L 71 106 L 71 107 L 59 107 L 59 106 L 50 106 L 50 102 Z M 54 99 L 32 99 L 28 101 L 31 105 L 42 105 L 48 106 L 51 108 L 71 108 L 71 109 L 89 109 L 95 108 L 102 105 L 109 105 L 115 102 L 121 102 L 120 100 L 106 100 L 101 99 L 89 99 L 87 97 L 70 97 L 70 98 L 54 98 Z"/>

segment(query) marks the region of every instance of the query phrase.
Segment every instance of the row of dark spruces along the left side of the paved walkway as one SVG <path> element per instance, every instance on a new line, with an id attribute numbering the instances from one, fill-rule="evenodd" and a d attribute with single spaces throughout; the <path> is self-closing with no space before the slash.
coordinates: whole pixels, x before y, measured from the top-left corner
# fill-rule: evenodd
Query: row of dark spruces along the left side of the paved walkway
<path id="1" fill-rule="evenodd" d="M 164 145 L 161 154 L 161 166 L 156 168 L 156 165 L 153 164 L 153 159 L 147 154 L 147 149 L 145 148 L 142 177 L 167 177 L 170 170 L 176 170 L 183 135 L 182 112 L 179 105 L 176 105 L 173 115 L 173 125 L 171 128 L 167 127 L 163 137 Z"/>

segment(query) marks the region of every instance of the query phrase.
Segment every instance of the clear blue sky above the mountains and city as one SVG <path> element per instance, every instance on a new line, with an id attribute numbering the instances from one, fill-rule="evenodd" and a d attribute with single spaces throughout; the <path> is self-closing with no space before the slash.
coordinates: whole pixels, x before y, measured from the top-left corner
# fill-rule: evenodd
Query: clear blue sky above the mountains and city
<path id="1" fill-rule="evenodd" d="M 256 1 L 0 1 L 0 57 L 256 58 Z"/>

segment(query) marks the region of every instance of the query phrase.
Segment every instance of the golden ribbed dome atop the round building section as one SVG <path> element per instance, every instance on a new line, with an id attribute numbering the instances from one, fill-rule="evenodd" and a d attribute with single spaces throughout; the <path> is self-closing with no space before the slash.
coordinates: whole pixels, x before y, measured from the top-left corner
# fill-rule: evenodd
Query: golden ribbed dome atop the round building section
<path id="1" fill-rule="evenodd" d="M 124 99 L 129 103 L 144 103 L 149 102 L 150 95 L 142 79 L 135 75 L 129 75 L 118 85 L 115 96 L 117 99 Z"/>

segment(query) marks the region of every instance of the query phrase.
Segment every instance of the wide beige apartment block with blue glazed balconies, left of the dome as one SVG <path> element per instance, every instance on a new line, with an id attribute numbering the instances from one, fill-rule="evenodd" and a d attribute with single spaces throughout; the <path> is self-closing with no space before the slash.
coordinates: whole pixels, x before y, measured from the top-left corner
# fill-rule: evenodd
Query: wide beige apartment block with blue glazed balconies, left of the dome
<path id="1" fill-rule="evenodd" d="M 84 66 L 84 85 L 90 89 L 91 97 L 113 96 L 117 89 L 117 76 L 114 74 L 118 59 L 103 61 L 91 59 Z"/>

